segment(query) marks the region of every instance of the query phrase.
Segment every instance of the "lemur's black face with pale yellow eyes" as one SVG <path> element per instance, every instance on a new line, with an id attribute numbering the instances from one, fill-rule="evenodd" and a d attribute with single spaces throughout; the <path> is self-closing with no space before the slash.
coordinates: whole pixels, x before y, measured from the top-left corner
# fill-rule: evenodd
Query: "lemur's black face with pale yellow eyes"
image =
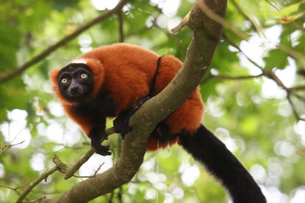
<path id="1" fill-rule="evenodd" d="M 84 63 L 69 63 L 58 73 L 57 83 L 67 99 L 84 101 L 93 90 L 94 75 Z"/>

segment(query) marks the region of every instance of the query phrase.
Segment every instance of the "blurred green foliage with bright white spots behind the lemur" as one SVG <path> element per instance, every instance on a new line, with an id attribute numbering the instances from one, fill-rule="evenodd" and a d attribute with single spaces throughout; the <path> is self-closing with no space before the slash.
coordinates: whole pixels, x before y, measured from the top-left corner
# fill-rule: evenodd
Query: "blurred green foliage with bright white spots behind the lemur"
<path id="1" fill-rule="evenodd" d="M 114 8 L 117 2 L 0 0 L 0 78 L 101 15 L 103 10 Z M 192 31 L 184 28 L 173 35 L 169 28 L 177 25 L 194 3 L 194 0 L 130 1 L 122 12 L 124 42 L 160 55 L 172 54 L 183 61 Z M 205 103 L 203 123 L 250 170 L 268 202 L 304 202 L 305 121 L 301 119 L 305 118 L 305 4 L 281 0 L 271 3 L 282 12 L 265 0 L 229 0 L 226 20 L 247 32 L 250 38 L 247 42 L 229 29 L 224 30 L 206 79 L 201 83 Z M 67 119 L 52 96 L 48 72 L 93 48 L 118 42 L 118 25 L 118 15 L 112 15 L 21 75 L 0 83 L 0 141 L 3 145 L 24 141 L 2 154 L 0 185 L 20 186 L 17 191 L 22 193 L 54 165 L 54 154 L 72 166 L 89 149 L 88 139 Z M 278 44 L 289 50 L 278 49 Z M 264 69 L 264 76 L 251 77 L 262 74 L 262 70 L 245 54 Z M 267 74 L 270 70 L 275 76 Z M 107 126 L 111 125 L 108 121 Z M 102 163 L 99 173 L 113 165 L 119 154 L 117 134 L 108 143 L 113 156 L 95 154 L 78 175 L 91 176 Z M 2 150 L 5 149 L 3 146 Z M 147 153 L 144 158 L 131 183 L 90 202 L 156 202 L 157 194 L 158 202 L 165 203 L 228 201 L 221 186 L 180 147 L 159 151 L 159 175 L 157 153 Z M 37 185 L 27 199 L 56 197 L 82 180 L 72 177 L 66 181 L 64 174 L 54 173 L 47 182 Z M 0 187 L 0 202 L 14 202 L 17 198 L 17 192 Z"/>

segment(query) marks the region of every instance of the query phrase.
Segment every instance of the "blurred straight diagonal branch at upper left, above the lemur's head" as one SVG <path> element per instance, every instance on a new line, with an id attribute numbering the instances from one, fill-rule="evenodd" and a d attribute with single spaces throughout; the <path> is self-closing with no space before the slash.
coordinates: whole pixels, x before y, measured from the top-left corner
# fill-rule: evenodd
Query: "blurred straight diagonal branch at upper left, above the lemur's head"
<path id="1" fill-rule="evenodd" d="M 39 55 L 37 55 L 36 57 L 34 57 L 32 60 L 27 61 L 26 63 L 24 63 L 23 65 L 21 65 L 18 69 L 16 69 L 15 71 L 13 71 L 12 73 L 9 73 L 8 75 L 0 78 L 0 84 L 7 82 L 8 80 L 20 75 L 22 72 L 24 72 L 26 69 L 28 69 L 29 67 L 31 67 L 32 65 L 36 64 L 37 62 L 41 61 L 42 59 L 46 58 L 50 53 L 54 52 L 56 49 L 58 49 L 59 47 L 64 46 L 65 44 L 67 44 L 68 42 L 70 42 L 72 39 L 74 39 L 75 37 L 77 37 L 81 32 L 85 31 L 86 29 L 92 27 L 93 25 L 103 21 L 104 19 L 108 18 L 109 16 L 111 16 L 112 14 L 117 13 L 118 11 L 120 11 L 123 6 L 125 4 L 127 4 L 129 0 L 121 0 L 117 6 L 110 10 L 110 11 L 106 11 L 104 12 L 102 15 L 98 16 L 97 18 L 95 18 L 94 20 L 88 22 L 87 24 L 81 26 L 80 28 L 78 28 L 77 30 L 75 30 L 75 32 L 73 32 L 71 35 L 63 38 L 62 40 L 60 40 L 59 42 L 57 42 L 56 44 L 50 46 L 49 48 L 47 48 L 45 51 L 43 51 L 42 53 L 40 53 Z"/>

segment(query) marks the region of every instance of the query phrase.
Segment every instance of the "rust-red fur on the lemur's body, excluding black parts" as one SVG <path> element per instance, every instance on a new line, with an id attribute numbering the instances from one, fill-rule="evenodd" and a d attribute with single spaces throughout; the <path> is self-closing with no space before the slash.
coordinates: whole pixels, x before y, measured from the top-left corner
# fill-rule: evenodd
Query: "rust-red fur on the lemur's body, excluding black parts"
<path id="1" fill-rule="evenodd" d="M 94 90 L 88 99 L 94 98 L 100 90 L 107 90 L 113 99 L 116 113 L 132 107 L 136 100 L 149 93 L 149 86 L 157 70 L 157 61 L 160 56 L 139 46 L 128 44 L 114 44 L 97 48 L 85 53 L 77 59 L 85 59 L 86 64 L 94 73 Z M 156 93 L 160 93 L 174 78 L 182 63 L 174 56 L 164 56 L 161 59 L 158 76 L 156 78 Z M 50 73 L 50 78 L 55 95 L 62 103 L 68 117 L 77 122 L 81 129 L 88 135 L 93 127 L 87 119 L 76 117 L 71 108 L 74 103 L 65 99 L 59 92 L 57 75 L 59 69 Z M 189 98 L 168 118 L 165 123 L 171 134 L 182 130 L 194 133 L 201 124 L 203 117 L 203 103 L 199 87 Z M 160 144 L 160 148 L 171 146 L 179 141 Z M 157 140 L 149 139 L 148 151 L 157 149 Z"/>

